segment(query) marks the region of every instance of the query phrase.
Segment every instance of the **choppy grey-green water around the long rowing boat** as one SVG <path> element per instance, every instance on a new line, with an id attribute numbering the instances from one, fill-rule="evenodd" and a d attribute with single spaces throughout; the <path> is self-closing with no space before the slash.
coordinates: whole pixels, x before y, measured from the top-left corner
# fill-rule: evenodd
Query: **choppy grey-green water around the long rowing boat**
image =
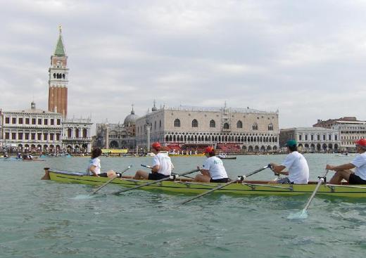
<path id="1" fill-rule="evenodd" d="M 305 155 L 310 178 L 353 157 Z M 247 174 L 284 155 L 238 156 L 225 160 L 229 176 Z M 201 165 L 204 157 L 172 157 L 175 172 Z M 184 195 L 130 191 L 107 195 L 118 186 L 95 189 L 42 181 L 43 167 L 84 171 L 86 157 L 55 157 L 45 162 L 0 161 L 0 257 L 364 257 L 366 202 L 318 198 L 308 218 L 300 212 L 309 196 L 210 195 L 184 206 Z M 103 157 L 102 171 L 126 174 L 151 164 L 149 157 Z M 329 172 L 328 176 L 332 176 Z M 270 169 L 253 179 L 274 179 Z"/>

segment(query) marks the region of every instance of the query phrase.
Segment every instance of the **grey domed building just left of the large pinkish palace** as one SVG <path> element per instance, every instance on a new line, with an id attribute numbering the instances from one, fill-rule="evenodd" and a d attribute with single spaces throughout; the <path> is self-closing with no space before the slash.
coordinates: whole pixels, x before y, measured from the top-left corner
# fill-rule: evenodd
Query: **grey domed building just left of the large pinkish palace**
<path id="1" fill-rule="evenodd" d="M 130 115 L 125 117 L 123 124 L 96 124 L 96 140 L 94 146 L 99 148 L 132 149 L 135 144 L 135 124 L 139 116 L 132 107 Z"/>

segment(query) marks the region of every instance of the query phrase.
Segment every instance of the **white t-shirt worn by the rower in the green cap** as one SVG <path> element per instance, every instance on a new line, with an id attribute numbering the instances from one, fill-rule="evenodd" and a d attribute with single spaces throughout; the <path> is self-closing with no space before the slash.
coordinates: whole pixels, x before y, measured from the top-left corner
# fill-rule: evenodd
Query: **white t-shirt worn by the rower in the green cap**
<path id="1" fill-rule="evenodd" d="M 294 183 L 308 183 L 309 181 L 309 167 L 305 157 L 293 151 L 286 156 L 281 164 L 289 170 L 289 180 Z"/>

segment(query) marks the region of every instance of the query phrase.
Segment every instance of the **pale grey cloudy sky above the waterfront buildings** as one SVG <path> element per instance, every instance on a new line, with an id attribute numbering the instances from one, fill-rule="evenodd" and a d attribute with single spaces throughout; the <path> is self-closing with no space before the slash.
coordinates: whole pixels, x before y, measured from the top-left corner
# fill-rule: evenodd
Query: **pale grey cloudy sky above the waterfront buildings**
<path id="1" fill-rule="evenodd" d="M 366 1 L 0 0 L 0 108 L 48 109 L 62 25 L 68 117 L 132 104 L 279 111 L 279 127 L 366 120 Z"/>

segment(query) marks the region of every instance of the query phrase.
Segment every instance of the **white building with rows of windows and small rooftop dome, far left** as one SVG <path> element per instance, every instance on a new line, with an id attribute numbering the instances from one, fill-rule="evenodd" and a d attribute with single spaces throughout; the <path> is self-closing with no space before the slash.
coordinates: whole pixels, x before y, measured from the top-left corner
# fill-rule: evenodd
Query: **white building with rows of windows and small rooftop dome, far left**
<path id="1" fill-rule="evenodd" d="M 3 147 L 20 151 L 59 152 L 62 148 L 62 115 L 40 110 L 34 102 L 26 110 L 3 111 Z"/>

